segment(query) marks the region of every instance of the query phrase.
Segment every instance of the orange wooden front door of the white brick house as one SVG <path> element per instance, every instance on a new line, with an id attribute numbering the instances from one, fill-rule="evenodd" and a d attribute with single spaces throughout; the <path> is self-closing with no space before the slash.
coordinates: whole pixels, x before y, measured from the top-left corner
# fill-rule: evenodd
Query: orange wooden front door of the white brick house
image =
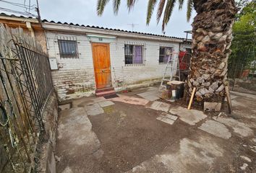
<path id="1" fill-rule="evenodd" d="M 97 89 L 111 86 L 109 44 L 92 43 L 93 64 Z"/>

